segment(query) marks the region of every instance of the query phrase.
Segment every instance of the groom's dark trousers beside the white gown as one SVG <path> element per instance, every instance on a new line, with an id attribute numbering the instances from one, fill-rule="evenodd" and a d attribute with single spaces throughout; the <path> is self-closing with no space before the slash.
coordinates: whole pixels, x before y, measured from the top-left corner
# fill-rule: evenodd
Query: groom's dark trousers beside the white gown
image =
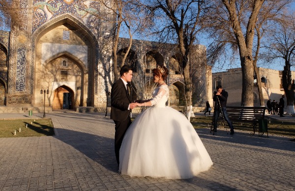
<path id="1" fill-rule="evenodd" d="M 130 116 L 128 116 L 127 119 L 125 119 L 124 121 L 114 120 L 114 122 L 115 122 L 115 154 L 116 154 L 117 163 L 119 165 L 120 147 L 121 147 L 124 135 L 131 124 L 131 118 Z"/>

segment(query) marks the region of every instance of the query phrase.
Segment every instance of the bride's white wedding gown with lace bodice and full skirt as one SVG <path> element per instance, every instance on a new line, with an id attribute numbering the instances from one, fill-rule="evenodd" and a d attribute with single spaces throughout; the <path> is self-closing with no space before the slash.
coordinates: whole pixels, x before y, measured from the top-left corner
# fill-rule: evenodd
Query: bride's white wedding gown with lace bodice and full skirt
<path id="1" fill-rule="evenodd" d="M 167 85 L 157 87 L 152 107 L 128 128 L 120 148 L 121 174 L 186 179 L 213 165 L 188 119 L 165 106 L 168 96 Z"/>

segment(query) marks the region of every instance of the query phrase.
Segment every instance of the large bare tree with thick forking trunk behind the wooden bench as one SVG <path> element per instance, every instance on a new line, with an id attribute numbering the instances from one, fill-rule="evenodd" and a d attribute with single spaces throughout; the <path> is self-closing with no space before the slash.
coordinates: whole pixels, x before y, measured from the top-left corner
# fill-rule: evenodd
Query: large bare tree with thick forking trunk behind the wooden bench
<path id="1" fill-rule="evenodd" d="M 228 44 L 234 51 L 238 50 L 242 69 L 242 106 L 253 106 L 253 72 L 259 77 L 257 60 L 264 34 L 263 24 L 274 19 L 288 2 L 290 0 L 216 0 L 212 9 L 211 37 L 218 40 L 208 48 L 208 58 L 216 60 Z M 258 39 L 253 54 L 255 29 Z M 259 94 L 261 105 L 264 105 L 261 88 Z"/>

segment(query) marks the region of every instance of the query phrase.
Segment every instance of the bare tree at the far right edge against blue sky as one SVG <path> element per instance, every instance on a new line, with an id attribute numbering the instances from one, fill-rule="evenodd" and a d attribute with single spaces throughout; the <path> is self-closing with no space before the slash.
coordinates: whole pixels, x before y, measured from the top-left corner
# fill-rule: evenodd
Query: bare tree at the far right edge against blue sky
<path id="1" fill-rule="evenodd" d="M 285 62 L 282 72 L 282 85 L 287 98 L 287 114 L 294 114 L 294 91 L 295 84 L 292 82 L 291 67 L 295 66 L 295 17 L 294 13 L 282 18 L 281 23 L 274 28 L 273 35 L 268 38 L 265 47 L 267 52 L 267 61 L 273 61 L 277 58 Z"/>

